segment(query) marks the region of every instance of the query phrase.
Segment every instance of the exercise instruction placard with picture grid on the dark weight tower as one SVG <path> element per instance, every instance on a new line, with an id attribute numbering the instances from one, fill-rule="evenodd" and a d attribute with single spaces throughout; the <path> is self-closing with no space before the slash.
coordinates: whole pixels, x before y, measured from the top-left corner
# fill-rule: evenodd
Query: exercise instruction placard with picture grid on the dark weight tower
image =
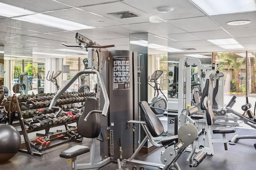
<path id="1" fill-rule="evenodd" d="M 118 89 L 130 89 L 129 57 L 115 57 L 113 59 L 113 90 Z"/>

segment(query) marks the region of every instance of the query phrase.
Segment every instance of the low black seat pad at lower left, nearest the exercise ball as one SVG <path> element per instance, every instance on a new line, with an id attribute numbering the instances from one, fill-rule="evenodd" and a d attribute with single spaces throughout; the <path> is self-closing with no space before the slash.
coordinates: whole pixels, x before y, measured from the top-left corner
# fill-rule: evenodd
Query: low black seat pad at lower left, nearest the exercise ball
<path id="1" fill-rule="evenodd" d="M 84 154 L 86 152 L 90 152 L 89 147 L 86 147 L 83 145 L 76 145 L 67 150 L 60 152 L 60 157 L 70 159 L 70 158 L 74 158 L 80 154 Z"/>

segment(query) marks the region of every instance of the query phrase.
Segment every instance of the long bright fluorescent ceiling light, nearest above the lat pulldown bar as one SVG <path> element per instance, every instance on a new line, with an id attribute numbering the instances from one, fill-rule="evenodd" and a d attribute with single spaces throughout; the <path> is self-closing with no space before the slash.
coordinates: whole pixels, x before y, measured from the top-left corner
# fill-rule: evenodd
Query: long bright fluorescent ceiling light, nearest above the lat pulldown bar
<path id="1" fill-rule="evenodd" d="M 60 28 L 60 29 L 68 30 L 68 31 L 95 28 L 95 27 L 90 27 L 88 25 L 84 25 L 82 23 L 64 20 L 61 18 L 56 18 L 54 16 L 48 16 L 45 14 L 34 14 L 34 15 L 29 15 L 29 16 L 17 17 L 17 18 L 13 18 L 13 19 L 20 20 L 20 21 L 26 21 L 26 22 L 30 22 L 30 23 L 36 23 L 36 24 L 40 24 L 40 25 L 46 25 L 49 27 Z"/>

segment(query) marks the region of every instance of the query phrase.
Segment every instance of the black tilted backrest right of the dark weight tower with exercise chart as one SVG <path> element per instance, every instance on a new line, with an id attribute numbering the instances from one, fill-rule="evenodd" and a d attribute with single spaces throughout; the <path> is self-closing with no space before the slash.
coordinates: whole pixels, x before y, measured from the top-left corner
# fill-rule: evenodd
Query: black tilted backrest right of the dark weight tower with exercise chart
<path id="1" fill-rule="evenodd" d="M 148 106 L 148 102 L 139 102 L 140 109 L 144 115 L 148 130 L 153 137 L 158 137 L 164 132 L 164 126 L 160 119 L 155 115 L 155 113 Z"/>

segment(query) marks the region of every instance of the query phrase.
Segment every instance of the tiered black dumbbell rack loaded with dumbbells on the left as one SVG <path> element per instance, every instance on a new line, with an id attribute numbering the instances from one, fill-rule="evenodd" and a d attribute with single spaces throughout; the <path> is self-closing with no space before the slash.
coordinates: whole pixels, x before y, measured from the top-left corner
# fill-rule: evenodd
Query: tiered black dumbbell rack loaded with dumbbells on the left
<path id="1" fill-rule="evenodd" d="M 47 99 L 47 96 L 54 96 L 54 94 L 43 94 L 41 96 L 45 96 L 44 99 Z M 78 93 L 78 92 L 71 92 L 71 93 L 64 93 L 60 99 L 58 100 L 58 102 L 56 103 L 56 106 L 58 107 L 62 107 L 62 111 L 61 113 L 59 113 L 60 116 L 65 117 L 66 120 L 66 111 L 68 110 L 75 110 L 74 108 L 70 107 L 70 106 L 75 106 L 75 103 L 82 103 L 85 102 L 87 97 L 90 96 L 95 96 L 95 93 Z M 28 100 L 28 98 L 33 98 L 32 100 Z M 37 98 L 40 98 L 41 102 L 40 105 L 38 100 L 36 100 Z M 48 97 L 49 99 L 49 97 Z M 47 100 L 48 100 L 47 99 Z M 34 104 L 36 103 L 37 106 L 34 106 Z M 3 104 L 3 103 L 2 103 Z M 81 115 L 82 109 L 76 109 L 76 111 L 78 111 L 78 113 L 76 114 L 76 117 L 73 115 L 72 119 L 66 120 L 64 122 L 56 122 L 53 124 L 53 121 L 51 119 L 51 123 L 48 123 L 44 126 L 41 125 L 36 125 L 38 124 L 40 121 L 31 121 L 31 118 L 33 118 L 33 116 L 36 115 L 54 115 L 54 111 L 51 111 L 48 109 L 48 103 L 43 101 L 42 98 L 40 97 L 40 95 L 34 95 L 34 96 L 29 96 L 29 95 L 24 95 L 24 96 L 16 96 L 14 94 L 14 96 L 10 97 L 8 99 L 8 101 L 6 101 L 6 105 L 10 105 L 11 107 L 8 107 L 8 114 L 6 115 L 6 117 L 11 117 L 12 119 L 9 120 L 9 124 L 12 125 L 13 121 L 18 120 L 21 126 L 22 131 L 20 131 L 20 135 L 24 136 L 24 140 L 25 142 L 22 145 L 26 145 L 26 150 L 22 149 L 20 150 L 20 152 L 24 152 L 27 154 L 31 154 L 31 155 L 35 155 L 35 156 L 42 156 L 42 153 L 40 153 L 40 151 L 46 150 L 46 149 L 50 149 L 52 147 L 56 147 L 58 145 L 64 144 L 64 143 L 68 143 L 70 141 L 77 141 L 77 142 L 81 142 L 82 140 L 80 139 L 78 133 L 75 133 L 74 131 L 76 129 L 70 129 L 68 124 L 70 123 L 75 123 L 78 121 L 79 116 Z M 70 105 L 69 107 L 67 105 Z M 28 109 L 27 111 L 21 111 L 21 107 L 26 107 L 26 109 Z M 80 107 L 82 107 L 82 105 L 80 105 Z M 28 113 L 26 113 L 28 112 Z M 26 113 L 26 114 L 25 114 Z M 65 114 L 65 115 L 64 115 Z M 62 117 L 62 119 L 64 119 Z M 70 116 L 69 116 L 70 117 Z M 7 118 L 6 118 L 7 119 Z M 49 119 L 49 120 L 50 120 Z M 54 118 L 53 118 L 54 119 Z M 45 121 L 46 119 L 44 119 Z M 55 118 L 56 120 L 56 118 Z M 45 121 L 46 122 L 46 121 Z M 50 128 L 52 127 L 57 127 L 60 125 L 64 125 L 66 128 L 66 133 L 58 133 L 58 134 L 54 134 L 54 135 L 49 135 L 49 131 Z M 36 131 L 41 131 L 41 130 L 45 130 L 45 134 L 38 134 L 37 136 L 40 137 L 46 137 L 46 141 L 58 141 L 52 143 L 50 146 L 48 147 L 42 147 L 41 143 L 35 143 L 34 141 L 29 141 L 28 139 L 28 133 L 32 133 L 32 132 L 36 132 Z M 73 131 L 74 130 L 74 131 Z M 57 135 L 59 135 L 57 137 Z M 33 152 L 32 148 L 38 150 L 39 152 Z"/>

